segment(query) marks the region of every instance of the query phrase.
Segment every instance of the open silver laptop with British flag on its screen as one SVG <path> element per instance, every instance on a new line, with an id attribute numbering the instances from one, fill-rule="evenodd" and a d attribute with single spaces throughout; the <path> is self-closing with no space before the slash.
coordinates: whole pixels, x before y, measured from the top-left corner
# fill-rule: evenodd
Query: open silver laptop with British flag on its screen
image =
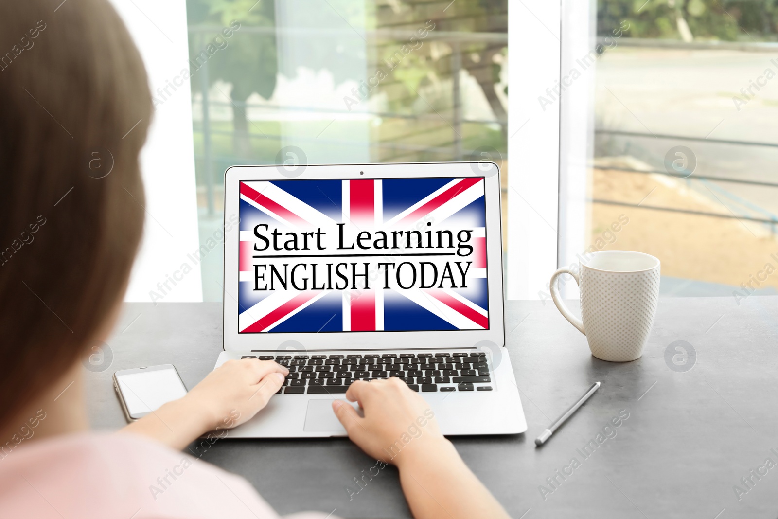
<path id="1" fill-rule="evenodd" d="M 345 436 L 331 402 L 387 377 L 419 391 L 448 436 L 527 430 L 505 348 L 495 163 L 236 166 L 224 197 L 216 366 L 289 368 L 230 437 Z"/>

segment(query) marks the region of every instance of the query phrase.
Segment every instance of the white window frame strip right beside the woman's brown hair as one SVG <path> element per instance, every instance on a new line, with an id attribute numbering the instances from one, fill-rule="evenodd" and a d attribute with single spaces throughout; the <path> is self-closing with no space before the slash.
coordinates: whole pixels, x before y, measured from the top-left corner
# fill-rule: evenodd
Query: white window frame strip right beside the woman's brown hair
<path id="1" fill-rule="evenodd" d="M 195 141 L 189 79 L 182 73 L 190 68 L 186 2 L 111 3 L 140 51 L 158 100 L 140 155 L 145 224 L 124 300 L 199 302 Z"/>

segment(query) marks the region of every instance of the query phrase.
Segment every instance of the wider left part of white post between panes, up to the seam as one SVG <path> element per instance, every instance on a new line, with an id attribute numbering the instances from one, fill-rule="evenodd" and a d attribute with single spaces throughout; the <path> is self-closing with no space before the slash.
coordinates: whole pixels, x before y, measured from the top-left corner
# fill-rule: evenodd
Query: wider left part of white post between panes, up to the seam
<path id="1" fill-rule="evenodd" d="M 508 9 L 508 261 L 510 300 L 537 299 L 556 267 L 559 221 L 559 82 L 562 5 L 521 0 Z"/>

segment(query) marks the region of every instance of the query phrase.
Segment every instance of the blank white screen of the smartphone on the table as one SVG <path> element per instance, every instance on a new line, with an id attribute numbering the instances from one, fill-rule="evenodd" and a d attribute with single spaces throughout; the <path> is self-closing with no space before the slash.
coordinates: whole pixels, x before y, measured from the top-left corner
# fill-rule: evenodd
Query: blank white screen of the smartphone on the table
<path id="1" fill-rule="evenodd" d="M 184 383 L 173 368 L 129 373 L 117 376 L 117 381 L 131 416 L 156 411 L 163 404 L 187 394 Z"/>

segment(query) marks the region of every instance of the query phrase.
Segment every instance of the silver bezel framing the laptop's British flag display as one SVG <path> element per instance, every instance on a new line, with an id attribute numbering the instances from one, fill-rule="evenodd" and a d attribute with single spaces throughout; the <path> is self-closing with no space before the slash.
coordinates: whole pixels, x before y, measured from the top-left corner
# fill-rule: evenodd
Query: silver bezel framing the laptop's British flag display
<path id="1" fill-rule="evenodd" d="M 486 261 L 489 289 L 488 330 L 445 331 L 331 331 L 316 333 L 238 333 L 238 242 L 240 226 L 240 181 L 289 180 L 282 167 L 233 166 L 224 174 L 224 272 L 223 349 L 234 352 L 278 352 L 285 343 L 300 343 L 294 349 L 367 350 L 459 348 L 482 341 L 505 344 L 503 324 L 503 237 L 500 218 L 499 168 L 479 163 L 384 163 L 307 165 L 300 180 L 383 179 L 401 177 L 484 177 L 486 210 Z M 431 342 L 434 341 L 434 342 Z"/>

